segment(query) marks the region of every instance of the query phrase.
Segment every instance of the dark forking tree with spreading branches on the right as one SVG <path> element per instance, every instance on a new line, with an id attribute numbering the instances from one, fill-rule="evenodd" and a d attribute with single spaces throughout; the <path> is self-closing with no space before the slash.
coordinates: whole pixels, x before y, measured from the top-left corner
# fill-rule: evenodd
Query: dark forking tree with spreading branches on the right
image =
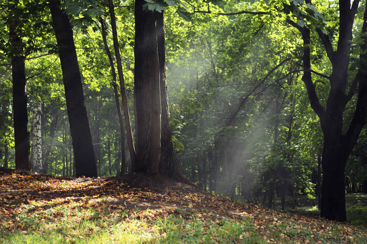
<path id="1" fill-rule="evenodd" d="M 312 6 L 310 0 L 305 1 L 305 6 L 314 10 L 309 16 L 312 20 L 320 18 L 319 12 Z M 367 31 L 367 5 L 365 4 L 364 21 L 361 28 L 363 42 L 360 46 L 360 67 L 353 79 L 353 83 L 349 84 L 349 79 L 353 75 L 354 70 L 350 69 L 350 50 L 353 35 L 353 23 L 359 0 L 353 1 L 350 5 L 348 0 L 339 0 L 339 29 L 337 31 L 338 39 L 336 50 L 329 35 L 325 34 L 319 25 L 310 25 L 316 27 L 317 34 L 324 45 L 324 50 L 332 65 L 330 76 L 325 76 L 330 82 L 330 91 L 328 93 L 326 108 L 321 104 L 316 93 L 316 82 L 312 82 L 310 44 L 311 36 L 308 26 L 300 26 L 288 19 L 287 22 L 299 30 L 303 40 L 303 65 L 305 71 L 302 81 L 307 89 L 310 106 L 320 118 L 320 124 L 324 135 L 324 146 L 322 154 L 322 172 L 323 183 L 321 190 L 321 217 L 333 219 L 337 221 L 346 220 L 345 210 L 345 166 L 348 157 L 355 146 L 361 129 L 367 122 L 367 75 L 366 75 L 366 31 Z M 304 6 L 290 5 L 290 8 L 298 8 Z M 298 16 L 306 19 L 306 16 Z M 300 23 L 300 22 L 298 22 Z M 319 23 L 319 22 L 311 22 Z M 363 44 L 364 43 L 364 44 Z M 347 85 L 350 85 L 349 92 Z M 344 119 L 344 111 L 346 105 L 352 99 L 357 91 L 357 104 L 355 114 L 349 125 Z M 348 92 L 348 93 L 347 93 Z"/>

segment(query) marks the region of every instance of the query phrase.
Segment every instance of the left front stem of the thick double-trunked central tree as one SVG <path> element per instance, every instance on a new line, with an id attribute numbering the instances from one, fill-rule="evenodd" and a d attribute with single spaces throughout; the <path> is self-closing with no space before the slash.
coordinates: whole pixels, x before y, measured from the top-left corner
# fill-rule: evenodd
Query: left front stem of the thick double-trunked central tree
<path id="1" fill-rule="evenodd" d="M 144 0 L 135 1 L 135 70 L 134 70 L 134 93 L 136 114 L 136 155 L 137 155 L 137 171 L 147 172 L 148 174 L 157 174 L 160 156 L 157 149 L 154 149 L 159 143 L 152 141 L 152 132 L 157 129 L 157 125 L 153 128 L 153 123 L 158 123 L 157 119 L 153 120 L 154 112 L 159 113 L 156 108 L 152 108 L 152 90 L 158 83 L 159 86 L 159 59 L 157 49 L 157 30 L 156 18 L 152 11 L 143 10 Z M 152 84 L 154 83 L 153 87 Z M 159 90 L 158 90 L 159 91 Z M 157 94 L 155 94 L 157 97 Z M 159 96 L 159 94 L 158 94 Z M 154 95 L 153 95 L 154 97 Z M 157 106 L 157 104 L 155 103 Z M 159 102 L 160 107 L 160 102 Z M 156 116 L 157 117 L 157 116 Z M 154 132 L 153 132 L 154 133 Z M 159 134 L 160 134 L 160 117 L 159 117 Z M 153 135 L 153 138 L 156 135 Z M 154 144 L 154 145 L 153 145 Z M 151 157 L 153 145 L 153 158 Z M 159 149 L 160 150 L 160 149 Z M 158 158 L 158 160 L 157 160 Z"/>

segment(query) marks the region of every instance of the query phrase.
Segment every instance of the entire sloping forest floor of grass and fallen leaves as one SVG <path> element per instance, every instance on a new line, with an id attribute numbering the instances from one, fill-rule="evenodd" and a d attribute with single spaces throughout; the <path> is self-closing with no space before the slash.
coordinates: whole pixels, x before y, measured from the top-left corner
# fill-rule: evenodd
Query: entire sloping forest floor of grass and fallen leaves
<path id="1" fill-rule="evenodd" d="M 366 243 L 366 226 L 235 202 L 165 181 L 0 168 L 1 243 Z"/>

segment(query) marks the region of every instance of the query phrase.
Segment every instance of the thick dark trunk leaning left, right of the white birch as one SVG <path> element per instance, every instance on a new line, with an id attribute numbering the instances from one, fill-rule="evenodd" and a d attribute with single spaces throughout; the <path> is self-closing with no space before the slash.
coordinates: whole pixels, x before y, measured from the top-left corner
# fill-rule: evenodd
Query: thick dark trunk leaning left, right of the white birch
<path id="1" fill-rule="evenodd" d="M 76 56 L 73 31 L 68 15 L 59 7 L 60 1 L 50 3 L 56 40 L 65 87 L 66 107 L 73 140 L 75 176 L 97 176 L 97 165 L 92 144 L 92 136 L 84 104 L 83 86 Z"/>

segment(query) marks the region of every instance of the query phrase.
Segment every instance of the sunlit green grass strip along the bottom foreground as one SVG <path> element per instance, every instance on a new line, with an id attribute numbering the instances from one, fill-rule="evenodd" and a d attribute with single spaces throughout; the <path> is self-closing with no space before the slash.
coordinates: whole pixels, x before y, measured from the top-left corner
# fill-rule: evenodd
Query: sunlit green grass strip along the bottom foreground
<path id="1" fill-rule="evenodd" d="M 106 210 L 106 209 L 101 209 Z M 291 221 L 276 218 L 277 212 L 273 211 L 272 217 L 267 215 L 252 216 L 241 219 L 212 217 L 200 218 L 195 212 L 174 211 L 167 218 L 151 221 L 137 219 L 130 215 L 129 218 L 93 218 L 100 216 L 98 209 L 90 209 L 89 217 L 80 218 L 78 213 L 69 217 L 65 215 L 53 222 L 40 221 L 40 217 L 30 216 L 23 224 L 23 230 L 14 230 L 11 234 L 3 236 L 3 243 L 14 244 L 84 244 L 84 243 L 344 243 L 345 238 L 353 238 L 353 243 L 365 243 L 365 236 L 356 237 L 350 230 L 350 236 L 340 234 L 345 231 L 345 226 L 326 222 L 324 228 L 313 223 Z M 149 214 L 146 211 L 145 214 Z M 122 215 L 122 213 L 121 213 Z M 188 218 L 191 217 L 191 218 Z M 19 217 L 19 220 L 25 217 Z M 260 226 L 260 224 L 263 224 Z M 318 242 L 320 241 L 320 242 Z"/>

